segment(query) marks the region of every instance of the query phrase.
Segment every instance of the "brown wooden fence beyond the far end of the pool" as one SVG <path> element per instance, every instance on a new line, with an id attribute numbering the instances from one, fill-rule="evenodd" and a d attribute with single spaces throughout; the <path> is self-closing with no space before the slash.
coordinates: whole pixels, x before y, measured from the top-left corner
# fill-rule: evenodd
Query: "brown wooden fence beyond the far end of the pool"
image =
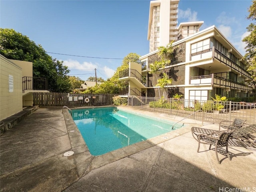
<path id="1" fill-rule="evenodd" d="M 112 105 L 118 94 L 33 93 L 33 104 L 40 106 L 100 106 Z"/>

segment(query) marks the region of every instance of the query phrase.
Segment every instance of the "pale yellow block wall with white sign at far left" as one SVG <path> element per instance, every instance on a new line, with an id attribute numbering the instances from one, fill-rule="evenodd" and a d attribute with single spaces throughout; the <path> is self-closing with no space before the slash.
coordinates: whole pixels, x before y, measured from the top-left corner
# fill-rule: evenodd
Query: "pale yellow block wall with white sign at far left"
<path id="1" fill-rule="evenodd" d="M 13 92 L 9 90 L 13 77 Z M 0 55 L 0 120 L 22 111 L 22 68 Z"/>

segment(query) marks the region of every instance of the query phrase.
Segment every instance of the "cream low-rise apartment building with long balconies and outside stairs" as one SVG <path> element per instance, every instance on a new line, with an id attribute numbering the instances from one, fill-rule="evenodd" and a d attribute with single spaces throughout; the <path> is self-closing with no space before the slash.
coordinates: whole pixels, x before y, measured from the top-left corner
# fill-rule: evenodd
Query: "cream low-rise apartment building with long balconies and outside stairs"
<path id="1" fill-rule="evenodd" d="M 129 69 L 120 72 L 120 79 L 129 81 L 124 95 L 161 97 L 156 77 L 165 72 L 172 79 L 172 84 L 166 85 L 169 97 L 175 93 L 190 100 L 210 100 L 215 94 L 228 98 L 250 96 L 252 88 L 245 84 L 252 81 L 246 71 L 248 64 L 216 26 L 184 35 L 172 44 L 177 48 L 175 59 L 158 74 L 150 74 L 149 68 L 150 63 L 159 60 L 158 50 L 140 57 L 144 66 L 131 63 Z"/>

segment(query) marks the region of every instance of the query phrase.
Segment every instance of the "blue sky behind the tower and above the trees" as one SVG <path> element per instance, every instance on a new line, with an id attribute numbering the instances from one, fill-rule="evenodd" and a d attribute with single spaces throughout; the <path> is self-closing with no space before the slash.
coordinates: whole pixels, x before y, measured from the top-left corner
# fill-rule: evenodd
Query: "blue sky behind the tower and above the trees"
<path id="1" fill-rule="evenodd" d="M 178 24 L 204 21 L 215 25 L 244 54 L 250 0 L 180 0 Z M 0 27 L 13 28 L 63 60 L 70 75 L 86 80 L 110 78 L 130 52 L 148 54 L 150 0 L 1 0 Z M 77 56 L 120 58 L 98 59 Z"/>

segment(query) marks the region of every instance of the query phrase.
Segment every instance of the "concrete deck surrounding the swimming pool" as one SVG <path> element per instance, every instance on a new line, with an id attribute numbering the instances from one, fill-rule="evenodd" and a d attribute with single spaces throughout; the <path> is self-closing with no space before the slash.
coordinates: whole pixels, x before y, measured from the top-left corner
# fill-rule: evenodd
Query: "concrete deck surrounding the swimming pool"
<path id="1" fill-rule="evenodd" d="M 181 117 L 121 106 L 156 118 Z M 256 148 L 230 143 L 228 160 L 192 137 L 202 122 L 186 119 L 183 128 L 92 156 L 67 109 L 41 107 L 0 136 L 0 191 L 32 192 L 191 192 L 256 191 Z M 204 128 L 218 125 L 204 122 Z M 72 156 L 64 156 L 74 151 Z M 233 190 L 234 191 L 234 190 Z M 237 190 L 238 191 L 238 190 Z"/>

